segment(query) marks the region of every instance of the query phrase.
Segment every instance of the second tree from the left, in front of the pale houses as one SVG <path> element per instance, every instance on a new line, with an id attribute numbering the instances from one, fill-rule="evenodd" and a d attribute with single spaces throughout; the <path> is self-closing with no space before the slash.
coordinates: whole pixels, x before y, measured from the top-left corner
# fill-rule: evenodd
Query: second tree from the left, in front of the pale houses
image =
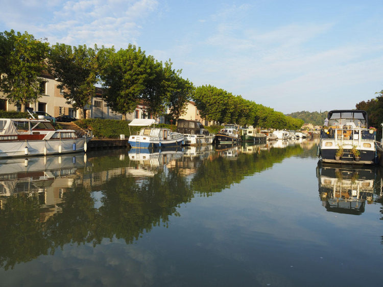
<path id="1" fill-rule="evenodd" d="M 73 46 L 57 43 L 51 49 L 49 62 L 51 73 L 57 78 L 63 89 L 66 103 L 82 109 L 86 118 L 85 107 L 95 96 L 95 84 L 99 75 L 98 47 L 86 45 Z"/>

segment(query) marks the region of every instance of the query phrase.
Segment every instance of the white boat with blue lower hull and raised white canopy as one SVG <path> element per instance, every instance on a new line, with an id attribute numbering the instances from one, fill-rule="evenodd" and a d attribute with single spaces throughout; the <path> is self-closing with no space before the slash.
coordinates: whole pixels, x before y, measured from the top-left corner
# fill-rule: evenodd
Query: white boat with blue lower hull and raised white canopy
<path id="1" fill-rule="evenodd" d="M 129 137 L 128 142 L 132 148 L 177 147 L 184 144 L 182 134 L 172 132 L 166 127 L 150 127 L 154 123 L 154 119 L 134 119 L 129 123 L 129 127 L 147 126 L 142 127 L 137 135 Z"/>

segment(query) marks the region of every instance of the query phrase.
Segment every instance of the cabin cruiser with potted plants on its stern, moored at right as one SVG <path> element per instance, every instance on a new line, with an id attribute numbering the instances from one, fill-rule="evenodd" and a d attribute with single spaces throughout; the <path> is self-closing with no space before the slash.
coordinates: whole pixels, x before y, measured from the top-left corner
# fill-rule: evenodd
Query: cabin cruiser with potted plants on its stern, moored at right
<path id="1" fill-rule="evenodd" d="M 374 128 L 368 128 L 367 112 L 333 110 L 321 128 L 318 156 L 327 163 L 375 164 Z"/>

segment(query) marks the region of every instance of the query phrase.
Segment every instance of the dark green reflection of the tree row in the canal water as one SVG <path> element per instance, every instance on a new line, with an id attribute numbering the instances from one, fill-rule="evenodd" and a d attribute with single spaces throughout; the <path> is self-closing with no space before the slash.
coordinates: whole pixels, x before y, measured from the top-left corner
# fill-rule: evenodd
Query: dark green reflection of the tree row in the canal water
<path id="1" fill-rule="evenodd" d="M 66 244 L 101 244 L 103 239 L 138 240 L 155 226 L 167 227 L 177 208 L 195 194 L 210 196 L 246 176 L 264 171 L 284 158 L 299 154 L 300 146 L 239 153 L 234 160 L 209 155 L 208 159 L 180 158 L 164 162 L 152 176 L 134 177 L 127 157 L 100 156 L 77 173 L 57 203 L 60 212 L 45 220 L 37 195 L 17 194 L 4 199 L 0 210 L 0 266 L 13 268 L 42 254 L 54 254 Z M 187 161 L 194 164 L 184 164 Z M 193 167 L 193 168 L 190 168 Z M 185 172 L 185 169 L 188 169 Z M 92 186 L 95 174 L 105 178 Z M 92 179 L 93 178 L 93 179 Z M 93 181 L 92 181 L 93 180 Z M 90 182 L 90 186 L 89 186 Z M 101 206 L 95 207 L 90 190 L 99 190 Z"/>

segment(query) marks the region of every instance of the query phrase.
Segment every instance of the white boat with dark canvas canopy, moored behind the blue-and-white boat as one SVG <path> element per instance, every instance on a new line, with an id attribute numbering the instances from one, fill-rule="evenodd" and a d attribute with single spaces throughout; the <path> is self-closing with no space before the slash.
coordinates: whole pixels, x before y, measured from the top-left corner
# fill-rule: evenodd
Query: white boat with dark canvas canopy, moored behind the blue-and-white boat
<path id="1" fill-rule="evenodd" d="M 178 120 L 177 132 L 183 134 L 185 145 L 212 144 L 214 135 L 211 135 L 199 121 Z"/>

